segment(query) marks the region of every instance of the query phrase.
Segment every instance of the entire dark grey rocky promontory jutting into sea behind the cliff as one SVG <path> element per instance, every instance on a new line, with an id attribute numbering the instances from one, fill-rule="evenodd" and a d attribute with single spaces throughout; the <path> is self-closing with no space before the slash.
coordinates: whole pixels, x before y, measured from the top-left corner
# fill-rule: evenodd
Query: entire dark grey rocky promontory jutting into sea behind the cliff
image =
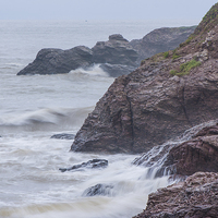
<path id="1" fill-rule="evenodd" d="M 118 77 L 132 72 L 147 56 L 175 48 L 193 31 L 194 27 L 167 28 L 167 31 L 160 28 L 147 36 L 148 38 L 154 36 L 156 41 L 147 43 L 144 39 L 147 38 L 146 36 L 142 40 L 130 43 L 122 35 L 113 34 L 109 36 L 109 40 L 98 41 L 92 49 L 85 46 L 68 50 L 41 49 L 36 59 L 21 70 L 17 75 L 61 74 L 77 68 L 87 69 L 94 64 L 100 64 L 99 66 L 110 76 Z M 157 38 L 156 32 L 158 32 L 159 38 Z M 162 40 L 164 38 L 168 40 Z"/>

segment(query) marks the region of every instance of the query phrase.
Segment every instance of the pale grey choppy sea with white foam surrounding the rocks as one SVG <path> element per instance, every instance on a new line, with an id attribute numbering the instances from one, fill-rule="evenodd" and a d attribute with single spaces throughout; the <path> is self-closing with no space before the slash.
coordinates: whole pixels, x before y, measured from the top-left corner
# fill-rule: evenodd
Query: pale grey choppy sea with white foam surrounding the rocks
<path id="1" fill-rule="evenodd" d="M 113 83 L 98 65 L 68 74 L 16 73 L 43 48 L 92 48 L 111 34 L 132 40 L 155 28 L 198 23 L 0 21 L 0 218 L 131 218 L 146 207 L 149 193 L 171 184 L 168 174 L 156 178 L 148 168 L 132 165 L 140 155 L 74 153 L 73 140 L 51 138 L 76 134 Z M 59 170 L 96 158 L 107 159 L 108 167 Z M 113 189 L 106 195 L 84 195 L 96 184 Z"/>

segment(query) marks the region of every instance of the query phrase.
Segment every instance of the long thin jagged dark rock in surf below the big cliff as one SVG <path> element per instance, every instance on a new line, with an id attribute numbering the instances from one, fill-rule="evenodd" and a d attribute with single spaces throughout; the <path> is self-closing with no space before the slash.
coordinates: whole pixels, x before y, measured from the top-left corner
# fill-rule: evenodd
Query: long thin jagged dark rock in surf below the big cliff
<path id="1" fill-rule="evenodd" d="M 82 162 L 81 165 L 74 165 L 70 168 L 60 168 L 61 172 L 70 171 L 70 170 L 77 170 L 83 168 L 95 169 L 95 168 L 106 168 L 108 166 L 108 160 L 105 159 L 93 159 L 88 160 L 87 162 Z"/>

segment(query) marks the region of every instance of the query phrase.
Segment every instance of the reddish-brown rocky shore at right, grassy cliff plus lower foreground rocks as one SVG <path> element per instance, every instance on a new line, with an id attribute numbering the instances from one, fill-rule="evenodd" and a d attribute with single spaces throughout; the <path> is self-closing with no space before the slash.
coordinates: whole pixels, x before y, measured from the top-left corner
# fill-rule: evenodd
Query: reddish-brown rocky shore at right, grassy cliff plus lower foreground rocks
<path id="1" fill-rule="evenodd" d="M 153 56 L 118 77 L 85 120 L 71 149 L 147 153 L 187 129 L 216 120 L 217 23 L 218 3 L 177 49 Z M 217 217 L 218 125 L 214 123 L 159 153 L 157 158 L 166 156 L 156 175 L 185 180 L 150 194 L 146 209 L 135 218 Z M 156 161 L 147 159 L 148 166 Z"/>

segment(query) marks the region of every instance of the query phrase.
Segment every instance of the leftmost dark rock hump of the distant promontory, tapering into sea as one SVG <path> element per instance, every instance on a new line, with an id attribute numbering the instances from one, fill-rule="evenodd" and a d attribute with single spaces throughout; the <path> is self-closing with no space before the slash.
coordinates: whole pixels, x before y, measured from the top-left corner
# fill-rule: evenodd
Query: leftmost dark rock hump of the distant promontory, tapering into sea
<path id="1" fill-rule="evenodd" d="M 89 48 L 77 46 L 69 50 L 41 49 L 33 63 L 21 70 L 17 75 L 69 73 L 77 68 L 86 68 L 93 63 Z"/>

